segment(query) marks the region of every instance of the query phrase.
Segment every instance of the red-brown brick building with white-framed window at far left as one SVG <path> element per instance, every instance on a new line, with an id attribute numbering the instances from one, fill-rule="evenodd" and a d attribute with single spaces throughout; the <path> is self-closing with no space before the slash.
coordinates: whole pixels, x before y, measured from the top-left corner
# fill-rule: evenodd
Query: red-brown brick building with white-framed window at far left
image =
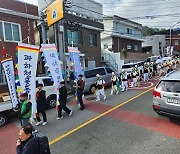
<path id="1" fill-rule="evenodd" d="M 33 22 L 37 19 L 39 19 L 37 6 L 19 0 L 0 0 L 0 40 L 13 59 L 18 42 L 28 43 L 29 40 L 29 43 L 34 44 Z M 0 92 L 4 90 L 4 84 L 6 84 L 5 75 L 0 66 Z"/>

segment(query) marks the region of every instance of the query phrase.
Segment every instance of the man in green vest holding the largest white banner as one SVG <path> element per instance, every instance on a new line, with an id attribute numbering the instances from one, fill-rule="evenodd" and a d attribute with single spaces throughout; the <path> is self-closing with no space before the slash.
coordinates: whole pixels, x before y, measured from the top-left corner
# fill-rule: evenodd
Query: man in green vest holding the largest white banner
<path id="1" fill-rule="evenodd" d="M 20 95 L 21 104 L 19 108 L 19 118 L 21 120 L 22 126 L 29 125 L 33 131 L 37 132 L 37 130 L 34 129 L 34 127 L 29 122 L 29 119 L 31 118 L 32 114 L 32 103 L 28 100 L 28 94 L 23 93 Z"/>

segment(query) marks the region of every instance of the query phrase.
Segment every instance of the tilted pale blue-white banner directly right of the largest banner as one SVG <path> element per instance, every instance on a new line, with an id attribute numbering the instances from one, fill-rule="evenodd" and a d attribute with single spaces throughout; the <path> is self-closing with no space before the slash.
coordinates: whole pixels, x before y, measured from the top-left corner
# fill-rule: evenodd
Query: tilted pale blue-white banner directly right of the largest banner
<path id="1" fill-rule="evenodd" d="M 47 66 L 49 67 L 50 73 L 54 80 L 54 85 L 58 89 L 60 82 L 63 80 L 63 77 L 57 48 L 55 44 L 42 44 L 41 52 L 46 59 Z"/>

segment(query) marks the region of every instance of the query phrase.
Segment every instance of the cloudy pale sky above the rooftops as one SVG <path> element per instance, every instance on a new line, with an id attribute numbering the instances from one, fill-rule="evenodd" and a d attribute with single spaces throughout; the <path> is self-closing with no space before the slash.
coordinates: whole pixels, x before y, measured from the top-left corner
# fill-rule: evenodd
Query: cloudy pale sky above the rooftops
<path id="1" fill-rule="evenodd" d="M 36 4 L 38 0 L 22 0 Z M 180 21 L 180 0 L 96 0 L 104 15 L 118 15 L 142 25 L 170 28 Z M 163 15 L 163 16 L 159 16 Z M 150 17 L 148 17 L 150 16 Z M 137 19 L 138 17 L 138 19 Z M 180 27 L 178 24 L 175 27 Z"/>

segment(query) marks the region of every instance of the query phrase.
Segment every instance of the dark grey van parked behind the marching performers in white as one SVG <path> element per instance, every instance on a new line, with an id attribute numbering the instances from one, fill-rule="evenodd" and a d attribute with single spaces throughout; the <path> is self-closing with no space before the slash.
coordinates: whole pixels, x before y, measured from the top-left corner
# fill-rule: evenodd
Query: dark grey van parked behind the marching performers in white
<path id="1" fill-rule="evenodd" d="M 93 93 L 96 88 L 95 82 L 97 80 L 96 75 L 99 74 L 102 76 L 102 79 L 106 82 L 105 86 L 111 85 L 111 76 L 113 70 L 109 67 L 97 67 L 94 69 L 84 70 L 84 79 L 85 79 L 85 90 L 84 92 Z M 117 73 L 116 73 L 117 75 Z"/>

